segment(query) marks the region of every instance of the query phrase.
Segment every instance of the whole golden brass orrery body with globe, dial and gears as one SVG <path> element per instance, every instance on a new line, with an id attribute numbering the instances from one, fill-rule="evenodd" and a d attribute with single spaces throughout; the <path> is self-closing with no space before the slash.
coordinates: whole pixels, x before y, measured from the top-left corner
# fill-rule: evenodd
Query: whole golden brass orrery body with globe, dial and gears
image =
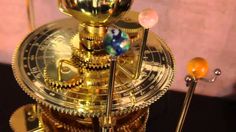
<path id="1" fill-rule="evenodd" d="M 173 81 L 175 65 L 170 49 L 150 33 L 140 76 L 134 78 L 143 28 L 137 22 L 137 13 L 127 12 L 132 0 L 58 2 L 61 11 L 77 20 L 63 19 L 38 28 L 15 52 L 14 75 L 38 104 L 23 106 L 12 115 L 13 130 L 19 129 L 16 113 L 24 115 L 32 110 L 38 129 L 44 131 L 96 131 L 107 125 L 102 120 L 110 56 L 102 43 L 107 27 L 112 26 L 126 31 L 132 43 L 131 50 L 117 60 L 112 123 L 108 124 L 116 131 L 144 131 L 147 106 L 159 99 Z M 27 118 L 24 120 L 30 124 Z"/>

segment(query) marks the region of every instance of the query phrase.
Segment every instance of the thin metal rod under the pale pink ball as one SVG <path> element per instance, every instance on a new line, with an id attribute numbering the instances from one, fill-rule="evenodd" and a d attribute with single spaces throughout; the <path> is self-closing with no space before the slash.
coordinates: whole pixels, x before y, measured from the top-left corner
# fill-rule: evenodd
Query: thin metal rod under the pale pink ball
<path id="1" fill-rule="evenodd" d="M 147 47 L 148 32 L 149 32 L 149 29 L 144 30 L 143 42 L 142 42 L 142 46 L 140 49 L 138 64 L 137 64 L 136 72 L 135 72 L 135 79 L 137 79 L 141 74 L 144 52 Z"/>

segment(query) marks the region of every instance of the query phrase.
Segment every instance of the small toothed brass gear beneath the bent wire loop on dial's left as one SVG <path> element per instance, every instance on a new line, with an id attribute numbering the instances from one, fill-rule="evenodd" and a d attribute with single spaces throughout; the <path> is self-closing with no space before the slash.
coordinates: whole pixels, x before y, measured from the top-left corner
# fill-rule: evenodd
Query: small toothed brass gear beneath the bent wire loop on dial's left
<path id="1" fill-rule="evenodd" d="M 64 71 L 63 71 L 64 70 Z M 53 89 L 69 89 L 79 86 L 83 82 L 81 69 L 62 67 L 61 80 L 58 79 L 58 67 L 46 66 L 44 69 L 44 81 Z"/>

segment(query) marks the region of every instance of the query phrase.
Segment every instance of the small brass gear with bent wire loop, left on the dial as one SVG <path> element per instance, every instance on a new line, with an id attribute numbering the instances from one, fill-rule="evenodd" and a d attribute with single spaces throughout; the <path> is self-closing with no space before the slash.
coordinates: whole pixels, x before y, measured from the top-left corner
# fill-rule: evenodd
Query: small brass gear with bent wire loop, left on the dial
<path id="1" fill-rule="evenodd" d="M 72 77 L 65 76 L 64 78 L 62 78 L 63 80 L 58 80 L 58 75 L 55 74 L 57 72 L 55 72 L 55 70 L 51 70 L 51 69 L 57 70 L 57 68 L 50 68 L 50 66 L 46 66 L 44 68 L 43 75 L 44 75 L 44 81 L 52 89 L 56 89 L 56 90 L 58 90 L 58 89 L 71 89 L 71 88 L 75 88 L 83 83 L 83 78 L 81 76 L 79 76 L 79 75 L 83 74 L 82 69 L 77 69 L 77 71 L 74 71 L 74 70 L 67 71 L 68 74 L 69 74 L 69 72 L 73 72 L 70 74 L 70 75 L 72 75 Z M 66 69 L 66 70 L 69 70 L 69 69 Z M 78 75 L 76 75 L 76 74 L 78 74 Z M 70 78 L 68 78 L 68 77 L 70 77 Z"/>

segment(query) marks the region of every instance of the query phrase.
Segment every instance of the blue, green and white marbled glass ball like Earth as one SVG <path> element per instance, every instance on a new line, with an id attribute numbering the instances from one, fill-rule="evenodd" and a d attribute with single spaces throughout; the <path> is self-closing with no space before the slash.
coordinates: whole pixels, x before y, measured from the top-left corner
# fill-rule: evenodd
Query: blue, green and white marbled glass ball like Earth
<path id="1" fill-rule="evenodd" d="M 119 56 L 130 49 L 129 35 L 120 29 L 109 28 L 103 40 L 104 48 L 111 56 Z"/>

